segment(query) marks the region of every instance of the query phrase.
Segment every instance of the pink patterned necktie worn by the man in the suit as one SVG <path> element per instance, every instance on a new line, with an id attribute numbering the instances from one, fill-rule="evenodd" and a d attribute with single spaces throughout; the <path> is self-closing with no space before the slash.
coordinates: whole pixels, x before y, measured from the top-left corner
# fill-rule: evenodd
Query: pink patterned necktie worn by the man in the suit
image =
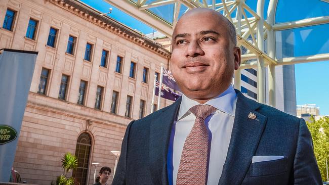
<path id="1" fill-rule="evenodd" d="M 207 184 L 208 130 L 204 119 L 217 109 L 209 105 L 196 105 L 190 111 L 195 115 L 194 125 L 188 134 L 177 174 L 177 185 Z"/>

